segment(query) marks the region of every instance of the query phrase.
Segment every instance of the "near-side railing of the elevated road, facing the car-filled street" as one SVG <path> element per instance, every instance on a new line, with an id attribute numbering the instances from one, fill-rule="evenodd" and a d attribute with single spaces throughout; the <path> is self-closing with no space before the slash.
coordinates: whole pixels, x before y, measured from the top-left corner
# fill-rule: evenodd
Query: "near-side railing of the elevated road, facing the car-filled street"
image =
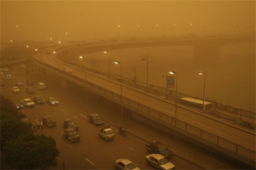
<path id="1" fill-rule="evenodd" d="M 207 142 L 210 142 L 211 144 L 215 144 L 219 147 L 222 147 L 223 150 L 228 150 L 230 152 L 234 152 L 237 155 L 241 155 L 245 158 L 248 158 L 249 160 L 251 160 L 252 162 L 255 163 L 255 150 L 249 150 L 246 147 L 243 147 L 239 144 L 228 141 L 227 139 L 224 139 L 215 134 L 211 134 L 208 131 L 204 131 L 203 129 L 197 128 L 194 125 L 183 122 L 181 120 L 176 120 L 175 117 L 172 117 L 170 115 L 166 115 L 163 112 L 159 112 L 157 110 L 151 109 L 150 107 L 147 107 L 147 106 L 140 104 L 136 101 L 132 101 L 129 98 L 125 98 L 125 97 L 121 98 L 120 95 L 113 93 L 110 90 L 106 90 L 105 88 L 94 85 L 91 82 L 86 82 L 85 80 L 83 80 L 79 77 L 75 77 L 72 74 L 67 74 L 64 71 L 61 71 L 61 70 L 59 70 L 53 66 L 50 66 L 46 63 L 42 63 L 41 61 L 37 61 L 35 59 L 33 59 L 32 61 L 39 64 L 39 66 L 42 66 L 45 69 L 51 69 L 51 70 L 55 71 L 56 74 L 60 74 L 62 77 L 65 77 L 67 80 L 69 80 L 71 82 L 76 82 L 78 85 L 81 85 L 86 88 L 90 88 L 95 93 L 99 93 L 102 96 L 108 97 L 111 100 L 116 101 L 117 103 L 119 103 L 122 99 L 125 107 L 129 107 L 130 109 L 140 112 L 141 114 L 143 114 L 146 117 L 151 117 L 151 119 L 154 119 L 155 121 L 162 123 L 162 124 L 166 125 L 167 127 L 177 125 L 177 127 L 181 131 L 186 131 L 187 133 L 197 136 L 200 139 L 206 140 Z"/>

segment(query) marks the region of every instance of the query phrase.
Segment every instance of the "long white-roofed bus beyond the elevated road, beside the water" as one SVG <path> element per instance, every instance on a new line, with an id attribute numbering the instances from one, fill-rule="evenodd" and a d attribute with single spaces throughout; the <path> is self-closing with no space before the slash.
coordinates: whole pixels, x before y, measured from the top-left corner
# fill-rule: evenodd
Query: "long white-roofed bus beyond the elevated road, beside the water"
<path id="1" fill-rule="evenodd" d="M 186 104 L 189 107 L 195 107 L 198 109 L 212 109 L 214 107 L 214 104 L 209 101 L 203 102 L 200 99 L 190 98 L 190 97 L 180 98 L 180 102 L 181 104 Z"/>

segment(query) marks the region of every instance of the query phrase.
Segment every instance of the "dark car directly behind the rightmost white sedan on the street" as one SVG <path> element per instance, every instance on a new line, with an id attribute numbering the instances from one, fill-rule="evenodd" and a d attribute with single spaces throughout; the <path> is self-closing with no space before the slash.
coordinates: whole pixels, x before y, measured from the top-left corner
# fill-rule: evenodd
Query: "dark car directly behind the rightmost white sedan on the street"
<path id="1" fill-rule="evenodd" d="M 173 158 L 174 153 L 171 152 L 165 145 L 160 142 L 149 142 L 146 144 L 146 149 L 151 153 L 160 153 L 165 156 L 165 158 Z"/>

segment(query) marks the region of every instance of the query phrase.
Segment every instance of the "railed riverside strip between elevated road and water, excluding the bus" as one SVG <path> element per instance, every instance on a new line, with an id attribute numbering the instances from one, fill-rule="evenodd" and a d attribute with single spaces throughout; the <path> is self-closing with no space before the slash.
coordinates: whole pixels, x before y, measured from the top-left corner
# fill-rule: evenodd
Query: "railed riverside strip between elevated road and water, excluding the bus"
<path id="1" fill-rule="evenodd" d="M 57 56 L 58 57 L 58 56 Z M 78 63 L 73 63 L 71 61 L 66 61 L 64 58 L 60 58 L 59 60 L 63 61 L 64 63 L 69 63 L 72 66 L 75 66 L 79 69 L 85 70 L 85 72 L 91 72 L 94 74 L 98 74 L 102 77 L 108 78 L 110 80 L 115 80 L 117 82 L 122 82 L 123 85 L 129 85 L 132 88 L 136 88 L 138 90 L 142 90 L 146 93 L 151 93 L 154 96 L 158 96 L 160 98 L 164 98 L 167 101 L 175 101 L 176 95 L 175 91 L 162 88 L 156 85 L 147 84 L 145 82 L 135 81 L 131 80 L 127 77 L 120 77 L 118 74 L 108 74 L 108 72 L 100 72 L 99 70 L 91 69 L 90 67 L 82 66 Z M 178 92 L 178 98 L 183 97 L 190 97 L 190 98 L 197 98 L 200 100 L 203 100 L 203 98 L 200 98 L 198 96 L 189 96 L 184 93 Z M 179 100 L 178 100 L 179 101 Z M 228 123 L 233 123 L 234 125 L 238 125 L 241 128 L 246 128 L 251 131 L 255 131 L 255 113 L 245 111 L 242 109 L 238 109 L 236 107 L 230 107 L 227 105 L 219 104 L 216 101 L 211 101 L 210 99 L 206 99 L 206 101 L 210 101 L 214 103 L 214 107 L 206 109 L 206 114 L 211 115 L 213 117 L 218 118 L 219 120 L 227 121 Z M 178 104 L 181 104 L 181 102 L 178 102 Z M 188 107 L 189 109 L 194 109 L 197 112 L 203 112 L 203 108 L 200 107 L 190 107 L 189 105 L 181 104 L 184 107 Z"/>

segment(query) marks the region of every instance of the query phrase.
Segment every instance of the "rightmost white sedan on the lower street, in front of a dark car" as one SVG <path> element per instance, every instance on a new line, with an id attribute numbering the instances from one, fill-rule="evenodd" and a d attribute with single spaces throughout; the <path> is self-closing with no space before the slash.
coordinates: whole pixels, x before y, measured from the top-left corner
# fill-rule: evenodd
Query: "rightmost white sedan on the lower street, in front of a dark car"
<path id="1" fill-rule="evenodd" d="M 173 170 L 175 166 L 161 154 L 150 154 L 146 156 L 146 161 L 157 169 Z"/>

